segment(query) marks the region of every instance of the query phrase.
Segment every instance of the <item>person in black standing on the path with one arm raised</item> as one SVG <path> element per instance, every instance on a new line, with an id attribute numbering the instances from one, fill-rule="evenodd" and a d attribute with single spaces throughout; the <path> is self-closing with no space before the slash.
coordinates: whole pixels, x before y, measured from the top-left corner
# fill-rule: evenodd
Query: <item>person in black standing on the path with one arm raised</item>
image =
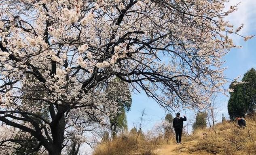
<path id="1" fill-rule="evenodd" d="M 176 117 L 173 119 L 173 128 L 175 129 L 177 144 L 181 144 L 183 121 L 186 120 L 186 116 L 184 115 L 184 118 L 182 118 L 180 117 L 180 113 L 176 113 Z"/>

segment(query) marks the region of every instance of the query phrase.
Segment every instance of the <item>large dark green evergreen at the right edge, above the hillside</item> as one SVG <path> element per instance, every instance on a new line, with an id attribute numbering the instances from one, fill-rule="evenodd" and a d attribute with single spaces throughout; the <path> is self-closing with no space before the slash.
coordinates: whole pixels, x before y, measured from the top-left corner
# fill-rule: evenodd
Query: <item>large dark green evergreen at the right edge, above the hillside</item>
<path id="1" fill-rule="evenodd" d="M 250 69 L 243 76 L 241 82 L 232 82 L 233 89 L 228 100 L 228 114 L 233 120 L 237 115 L 254 114 L 256 109 L 256 70 Z"/>

